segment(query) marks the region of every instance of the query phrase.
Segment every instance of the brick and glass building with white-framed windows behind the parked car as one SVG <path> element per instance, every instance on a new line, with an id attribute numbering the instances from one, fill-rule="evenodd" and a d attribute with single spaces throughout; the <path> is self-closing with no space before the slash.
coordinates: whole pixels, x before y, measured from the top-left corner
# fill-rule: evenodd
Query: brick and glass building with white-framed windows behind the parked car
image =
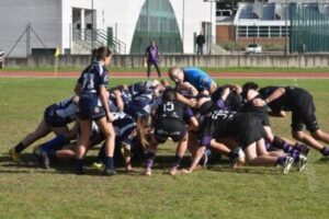
<path id="1" fill-rule="evenodd" d="M 285 44 L 291 33 L 293 7 L 329 15 L 328 0 L 239 2 L 232 16 L 217 16 L 217 42 Z"/>

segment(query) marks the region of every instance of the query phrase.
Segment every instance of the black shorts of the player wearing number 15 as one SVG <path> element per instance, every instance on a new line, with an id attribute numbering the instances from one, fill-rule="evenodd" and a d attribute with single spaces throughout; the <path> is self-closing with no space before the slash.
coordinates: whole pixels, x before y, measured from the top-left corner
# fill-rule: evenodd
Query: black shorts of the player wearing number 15
<path id="1" fill-rule="evenodd" d="M 169 137 L 178 142 L 184 138 L 185 134 L 186 127 L 182 120 L 162 118 L 156 122 L 155 137 L 159 143 L 164 143 Z"/>

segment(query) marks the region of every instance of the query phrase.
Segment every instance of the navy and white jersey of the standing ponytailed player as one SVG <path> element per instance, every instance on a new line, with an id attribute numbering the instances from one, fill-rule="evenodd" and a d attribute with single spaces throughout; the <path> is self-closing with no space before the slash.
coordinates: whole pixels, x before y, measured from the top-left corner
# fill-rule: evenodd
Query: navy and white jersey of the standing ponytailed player
<path id="1" fill-rule="evenodd" d="M 107 88 L 107 70 L 99 61 L 94 61 L 90 67 L 86 68 L 78 80 L 78 82 L 82 85 L 82 95 L 99 95 L 99 87 L 104 85 L 105 88 Z"/>

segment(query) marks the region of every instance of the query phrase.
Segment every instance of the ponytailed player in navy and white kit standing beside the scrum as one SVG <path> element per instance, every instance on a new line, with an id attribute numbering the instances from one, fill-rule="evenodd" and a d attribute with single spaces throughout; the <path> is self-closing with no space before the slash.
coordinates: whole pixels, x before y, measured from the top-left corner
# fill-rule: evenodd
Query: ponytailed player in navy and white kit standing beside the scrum
<path id="1" fill-rule="evenodd" d="M 76 173 L 83 174 L 82 163 L 91 135 L 92 122 L 100 127 L 105 138 L 105 174 L 116 174 L 114 170 L 115 132 L 112 125 L 113 116 L 110 113 L 107 100 L 109 84 L 107 70 L 112 53 L 107 47 L 100 47 L 95 54 L 97 61 L 89 66 L 79 78 L 75 92 L 80 96 L 79 118 L 80 136 L 76 152 Z"/>

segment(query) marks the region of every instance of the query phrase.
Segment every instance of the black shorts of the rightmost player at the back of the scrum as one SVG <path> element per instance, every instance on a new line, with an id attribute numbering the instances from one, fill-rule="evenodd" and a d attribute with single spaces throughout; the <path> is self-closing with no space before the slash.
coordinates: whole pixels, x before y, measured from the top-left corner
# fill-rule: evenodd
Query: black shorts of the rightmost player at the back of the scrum
<path id="1" fill-rule="evenodd" d="M 300 131 L 306 126 L 306 129 L 314 132 L 319 129 L 319 125 L 315 115 L 316 107 L 313 96 L 309 93 L 304 93 L 303 99 L 292 110 L 292 129 Z"/>

